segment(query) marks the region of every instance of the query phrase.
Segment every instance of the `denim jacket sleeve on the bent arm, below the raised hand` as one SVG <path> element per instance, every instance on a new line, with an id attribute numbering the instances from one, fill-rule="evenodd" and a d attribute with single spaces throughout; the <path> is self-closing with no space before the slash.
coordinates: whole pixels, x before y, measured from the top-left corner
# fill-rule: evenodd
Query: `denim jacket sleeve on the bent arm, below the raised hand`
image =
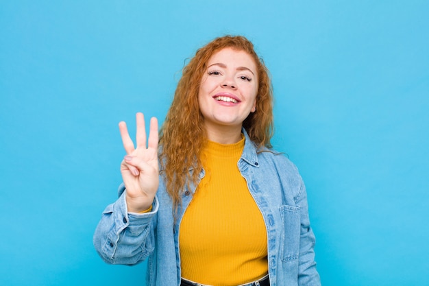
<path id="1" fill-rule="evenodd" d="M 119 199 L 103 211 L 93 243 L 106 263 L 134 265 L 154 251 L 158 198 L 155 198 L 151 212 L 128 213 L 125 191 L 121 184 Z"/>

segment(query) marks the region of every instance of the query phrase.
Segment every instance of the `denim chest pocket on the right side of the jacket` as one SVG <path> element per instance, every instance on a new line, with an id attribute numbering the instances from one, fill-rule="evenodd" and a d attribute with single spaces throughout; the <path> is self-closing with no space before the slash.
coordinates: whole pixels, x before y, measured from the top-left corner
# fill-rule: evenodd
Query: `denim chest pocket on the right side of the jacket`
<path id="1" fill-rule="evenodd" d="M 300 213 L 299 206 L 280 206 L 282 216 L 282 262 L 295 261 L 299 257 Z"/>

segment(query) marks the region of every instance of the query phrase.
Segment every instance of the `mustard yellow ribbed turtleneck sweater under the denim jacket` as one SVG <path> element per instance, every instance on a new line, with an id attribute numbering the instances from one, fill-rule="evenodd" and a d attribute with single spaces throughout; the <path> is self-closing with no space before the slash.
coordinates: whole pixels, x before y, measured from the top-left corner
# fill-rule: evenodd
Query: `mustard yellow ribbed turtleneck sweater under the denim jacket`
<path id="1" fill-rule="evenodd" d="M 183 278 L 230 286 L 268 273 L 267 230 L 237 167 L 244 140 L 230 145 L 209 141 L 202 152 L 206 176 L 180 224 Z"/>

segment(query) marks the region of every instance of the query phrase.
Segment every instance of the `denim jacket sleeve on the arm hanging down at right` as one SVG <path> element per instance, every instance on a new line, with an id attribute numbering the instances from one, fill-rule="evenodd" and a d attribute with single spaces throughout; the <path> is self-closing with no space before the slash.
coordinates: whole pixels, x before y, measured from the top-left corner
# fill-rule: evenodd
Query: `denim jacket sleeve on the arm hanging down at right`
<path id="1" fill-rule="evenodd" d="M 301 187 L 296 203 L 300 206 L 301 234 L 299 239 L 299 265 L 298 265 L 298 285 L 300 286 L 319 286 L 320 277 L 316 270 L 315 262 L 315 235 L 310 227 L 308 217 L 307 193 L 304 182 Z"/>

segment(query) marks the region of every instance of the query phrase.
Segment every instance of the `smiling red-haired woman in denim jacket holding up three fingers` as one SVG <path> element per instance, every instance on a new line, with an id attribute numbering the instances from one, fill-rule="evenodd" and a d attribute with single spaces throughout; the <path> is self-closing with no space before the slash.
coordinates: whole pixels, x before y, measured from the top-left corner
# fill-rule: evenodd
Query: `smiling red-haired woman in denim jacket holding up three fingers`
<path id="1" fill-rule="evenodd" d="M 249 40 L 223 36 L 197 51 L 159 150 L 157 120 L 147 144 L 143 114 L 136 124 L 134 147 L 119 123 L 123 184 L 94 235 L 106 262 L 149 257 L 157 286 L 320 285 L 304 183 L 270 149 L 271 82 Z"/>

